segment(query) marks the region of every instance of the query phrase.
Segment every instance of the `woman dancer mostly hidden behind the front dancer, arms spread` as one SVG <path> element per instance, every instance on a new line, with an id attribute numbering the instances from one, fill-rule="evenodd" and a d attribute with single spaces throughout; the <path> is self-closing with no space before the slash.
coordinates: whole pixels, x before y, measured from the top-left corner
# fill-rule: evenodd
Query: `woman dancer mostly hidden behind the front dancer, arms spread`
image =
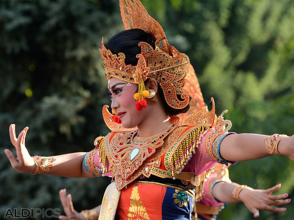
<path id="1" fill-rule="evenodd" d="M 192 66 L 190 66 L 189 71 L 185 76 L 185 80 L 186 83 L 184 89 L 186 89 L 190 97 L 190 109 L 195 109 L 197 111 L 201 111 L 202 107 L 206 109 L 199 82 Z M 179 114 L 178 116 L 180 119 L 184 120 L 192 113 L 193 112 L 189 110 L 187 113 Z M 259 216 L 258 210 L 265 209 L 273 212 L 283 211 L 283 208 L 277 209 L 270 205 L 282 205 L 291 201 L 291 199 L 276 201 L 277 199 L 284 199 L 287 194 L 271 196 L 273 191 L 280 188 L 280 184 L 267 190 L 242 187 L 237 183 L 231 182 L 228 176 L 228 168 L 224 164 L 215 165 L 214 170 L 213 174 L 207 179 L 205 179 L 204 174 L 202 174 L 200 185 L 195 187 L 196 201 L 192 212 L 192 220 L 216 219 L 216 215 L 218 215 L 219 210 L 224 208 L 226 203 L 242 201 L 256 218 Z M 239 189 L 239 187 L 241 187 L 240 189 L 242 189 L 242 193 L 239 191 L 239 197 L 236 198 L 235 194 L 232 193 L 234 189 Z M 105 194 L 107 193 L 109 193 L 108 190 Z M 63 210 L 66 214 L 66 216 L 63 215 L 59 217 L 61 220 L 98 219 L 101 205 L 91 210 L 83 210 L 79 213 L 74 210 L 71 195 L 66 196 L 66 189 L 59 191 L 59 197 Z"/>

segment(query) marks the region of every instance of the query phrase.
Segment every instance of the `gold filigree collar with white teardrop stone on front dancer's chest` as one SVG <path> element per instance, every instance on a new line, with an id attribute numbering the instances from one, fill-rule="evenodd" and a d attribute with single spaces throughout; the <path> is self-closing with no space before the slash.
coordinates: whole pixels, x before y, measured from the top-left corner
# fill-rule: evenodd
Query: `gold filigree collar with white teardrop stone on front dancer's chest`
<path id="1" fill-rule="evenodd" d="M 168 130 L 156 135 L 156 138 L 150 138 L 150 141 L 142 142 L 139 145 L 136 145 L 133 141 L 138 131 L 116 133 L 110 143 L 108 135 L 105 137 L 105 142 L 109 143 L 106 154 L 108 154 L 108 158 L 111 158 L 109 170 L 112 177 L 115 178 L 118 190 L 123 189 L 140 175 L 149 178 L 152 167 L 158 168 L 160 166 L 161 158 L 160 155 L 155 156 L 156 149 L 162 147 L 164 138 L 175 130 L 179 124 L 179 118 L 171 117 L 170 121 L 173 125 Z M 112 148 L 110 146 L 116 147 Z"/>

